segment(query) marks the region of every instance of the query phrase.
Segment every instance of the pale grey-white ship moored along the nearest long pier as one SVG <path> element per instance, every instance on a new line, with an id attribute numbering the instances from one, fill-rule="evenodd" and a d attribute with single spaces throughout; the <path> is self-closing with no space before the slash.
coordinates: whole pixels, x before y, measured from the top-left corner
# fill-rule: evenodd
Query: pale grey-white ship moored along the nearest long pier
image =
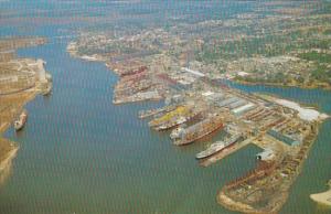
<path id="1" fill-rule="evenodd" d="M 228 148 L 233 146 L 235 142 L 237 142 L 242 138 L 242 135 L 233 136 L 232 138 L 224 140 L 224 141 L 217 141 L 212 143 L 206 150 L 199 152 L 195 158 L 197 160 L 209 158 L 217 152 L 221 152 L 225 148 Z"/>

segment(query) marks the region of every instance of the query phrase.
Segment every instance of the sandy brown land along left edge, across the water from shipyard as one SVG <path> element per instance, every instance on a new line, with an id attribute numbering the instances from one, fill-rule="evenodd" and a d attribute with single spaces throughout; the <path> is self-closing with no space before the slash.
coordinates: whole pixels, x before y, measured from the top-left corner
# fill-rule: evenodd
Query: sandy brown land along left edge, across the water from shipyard
<path id="1" fill-rule="evenodd" d="M 15 51 L 45 42 L 41 38 L 0 40 L 0 181 L 8 175 L 6 172 L 19 149 L 15 142 L 3 139 L 2 133 L 12 126 L 28 101 L 52 88 L 44 62 L 17 57 Z"/>

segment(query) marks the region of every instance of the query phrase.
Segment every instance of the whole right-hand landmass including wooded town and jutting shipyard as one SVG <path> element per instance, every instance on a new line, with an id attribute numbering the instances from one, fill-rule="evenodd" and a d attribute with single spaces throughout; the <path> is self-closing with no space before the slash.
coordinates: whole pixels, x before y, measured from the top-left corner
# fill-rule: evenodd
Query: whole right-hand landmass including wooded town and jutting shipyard
<path id="1" fill-rule="evenodd" d="M 142 110 L 139 117 L 151 118 L 154 130 L 171 130 L 173 145 L 225 132 L 224 139 L 196 154 L 201 165 L 247 145 L 259 147 L 256 169 L 225 184 L 217 202 L 244 213 L 277 213 L 329 116 L 227 83 L 330 88 L 329 11 L 296 4 L 295 13 L 288 13 L 291 8 L 285 2 L 276 9 L 266 3 L 255 13 L 225 20 L 86 31 L 67 51 L 74 57 L 104 62 L 118 75 L 114 104 L 164 99 L 164 107 Z"/>

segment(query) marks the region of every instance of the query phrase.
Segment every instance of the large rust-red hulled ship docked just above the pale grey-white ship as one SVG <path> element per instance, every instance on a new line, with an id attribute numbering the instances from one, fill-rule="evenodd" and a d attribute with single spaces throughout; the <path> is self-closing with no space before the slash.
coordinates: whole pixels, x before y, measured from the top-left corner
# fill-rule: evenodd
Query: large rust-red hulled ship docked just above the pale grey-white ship
<path id="1" fill-rule="evenodd" d="M 223 119 L 218 115 L 211 116 L 186 129 L 181 129 L 178 135 L 172 135 L 174 145 L 182 146 L 189 145 L 199 140 L 217 129 L 223 128 Z"/>

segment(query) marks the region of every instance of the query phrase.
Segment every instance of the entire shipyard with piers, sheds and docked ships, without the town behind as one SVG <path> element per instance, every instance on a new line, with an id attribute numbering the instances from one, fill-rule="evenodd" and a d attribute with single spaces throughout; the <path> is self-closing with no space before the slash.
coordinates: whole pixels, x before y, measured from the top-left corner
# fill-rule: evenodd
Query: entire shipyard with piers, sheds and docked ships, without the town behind
<path id="1" fill-rule="evenodd" d="M 228 139 L 244 136 L 228 147 L 210 148 L 199 164 L 209 167 L 248 145 L 263 150 L 252 157 L 257 161 L 255 169 L 222 188 L 220 204 L 245 213 L 280 210 L 325 115 L 293 101 L 231 88 L 189 67 L 168 73 L 158 62 L 119 65 L 108 64 L 119 76 L 114 103 L 164 99 L 163 107 L 142 110 L 139 118 L 148 119 L 153 130 L 169 132 L 174 147 L 205 143 L 206 137 L 221 131 Z M 215 142 L 229 143 L 226 140 Z"/>

